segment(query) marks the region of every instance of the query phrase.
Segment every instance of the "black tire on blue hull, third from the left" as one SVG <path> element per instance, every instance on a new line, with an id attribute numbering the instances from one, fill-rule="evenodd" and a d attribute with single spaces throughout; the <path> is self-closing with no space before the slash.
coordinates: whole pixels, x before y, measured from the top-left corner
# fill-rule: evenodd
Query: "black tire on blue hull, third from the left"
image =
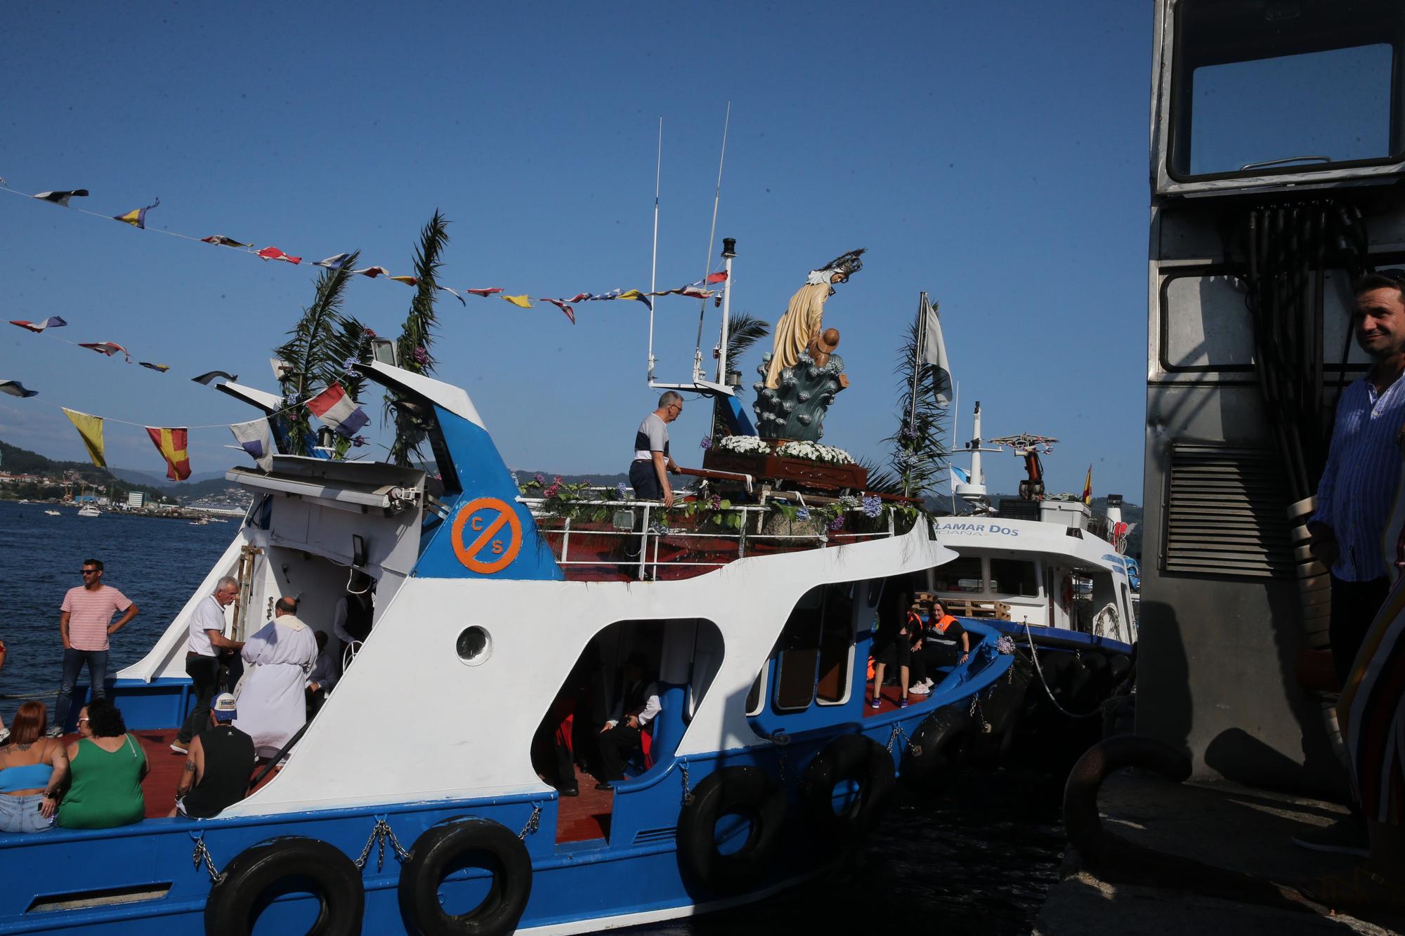
<path id="1" fill-rule="evenodd" d="M 740 815 L 750 828 L 739 849 L 718 847 L 717 824 Z M 679 860 L 717 892 L 754 887 L 766 878 L 785 822 L 785 791 L 760 767 L 722 767 L 693 788 L 679 817 Z"/>

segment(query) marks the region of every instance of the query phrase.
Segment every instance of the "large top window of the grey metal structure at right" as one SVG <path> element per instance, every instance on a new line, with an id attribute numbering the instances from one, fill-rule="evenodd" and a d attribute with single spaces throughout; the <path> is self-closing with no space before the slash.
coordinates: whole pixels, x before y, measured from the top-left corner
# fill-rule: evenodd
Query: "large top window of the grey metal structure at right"
<path id="1" fill-rule="evenodd" d="M 1186 0 L 1176 38 L 1176 178 L 1309 171 L 1405 150 L 1392 121 L 1405 7 L 1394 0 Z"/>

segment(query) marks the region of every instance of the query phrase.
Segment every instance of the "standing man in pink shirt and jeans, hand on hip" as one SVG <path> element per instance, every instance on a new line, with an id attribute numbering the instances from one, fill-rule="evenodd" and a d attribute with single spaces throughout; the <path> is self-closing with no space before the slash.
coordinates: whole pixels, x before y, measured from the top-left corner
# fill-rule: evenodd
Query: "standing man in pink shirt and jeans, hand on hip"
<path id="1" fill-rule="evenodd" d="M 59 634 L 63 637 L 63 682 L 53 704 L 51 736 L 63 734 L 73 703 L 73 686 L 79 682 L 83 663 L 93 684 L 91 698 L 107 696 L 107 638 L 136 617 L 138 607 L 125 594 L 103 585 L 103 562 L 83 561 L 83 585 L 69 589 L 59 606 Z M 122 617 L 112 623 L 112 616 Z"/>

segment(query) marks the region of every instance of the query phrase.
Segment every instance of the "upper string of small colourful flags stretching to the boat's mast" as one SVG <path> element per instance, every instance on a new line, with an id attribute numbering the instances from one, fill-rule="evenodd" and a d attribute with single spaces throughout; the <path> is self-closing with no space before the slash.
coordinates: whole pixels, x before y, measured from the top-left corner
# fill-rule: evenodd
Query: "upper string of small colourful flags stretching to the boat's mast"
<path id="1" fill-rule="evenodd" d="M 239 252 L 242 254 L 246 254 L 246 256 L 250 256 L 250 257 L 257 257 L 257 259 L 260 259 L 260 260 L 263 260 L 266 263 L 267 261 L 281 261 L 281 263 L 288 263 L 291 266 L 301 266 L 302 261 L 303 261 L 303 256 L 295 256 L 295 254 L 285 253 L 282 249 L 275 247 L 273 245 L 266 246 L 266 247 L 260 247 L 260 249 L 254 249 L 254 242 L 251 242 L 251 240 L 249 240 L 249 242 L 246 242 L 246 240 L 236 240 L 235 238 L 230 238 L 230 236 L 226 236 L 226 235 L 222 235 L 222 233 L 208 235 L 208 236 L 204 236 L 204 238 L 197 238 L 194 235 L 181 233 L 178 230 L 170 230 L 167 228 L 148 228 L 146 226 L 146 215 L 148 215 L 148 212 L 150 212 L 150 211 L 156 209 L 157 207 L 160 207 L 160 204 L 162 204 L 160 198 L 153 198 L 152 204 L 140 207 L 140 208 L 132 208 L 131 211 L 126 211 L 125 214 L 121 214 L 121 215 L 105 215 L 105 214 L 101 214 L 98 211 L 89 211 L 87 208 L 81 208 L 81 207 L 70 204 L 73 198 L 87 198 L 89 194 L 90 194 L 87 188 L 70 188 L 70 190 L 62 190 L 62 191 L 41 191 L 41 193 L 32 193 L 31 194 L 31 193 L 20 191 L 18 188 L 11 188 L 8 186 L 8 183 L 6 183 L 3 178 L 0 178 L 0 191 L 7 191 L 11 195 L 18 195 L 21 198 L 30 198 L 30 200 L 37 200 L 37 201 L 46 201 L 46 202 L 49 202 L 52 205 L 56 205 L 59 208 L 67 208 L 69 211 L 76 211 L 76 212 L 79 212 L 81 215 L 89 215 L 91 218 L 101 218 L 103 221 L 118 221 L 118 222 L 122 222 L 122 223 L 129 225 L 132 228 L 136 228 L 139 230 L 155 230 L 156 233 L 162 233 L 162 235 L 166 235 L 169 238 L 180 238 L 181 240 L 190 240 L 190 242 L 194 242 L 194 243 L 208 243 L 208 245 L 214 245 L 214 246 L 229 247 L 229 249 L 236 250 L 236 252 Z M 326 257 L 325 260 L 316 260 L 316 261 L 312 263 L 312 266 L 325 267 L 327 270 L 346 270 L 350 266 L 350 260 L 351 260 L 350 254 L 347 254 L 347 253 L 337 253 L 337 254 L 333 254 L 330 257 Z M 354 274 L 354 275 L 362 275 L 362 277 L 367 277 L 370 280 L 375 280 L 375 278 L 384 277 L 386 280 L 393 280 L 396 282 L 402 282 L 402 284 L 409 285 L 409 287 L 419 287 L 419 282 L 420 282 L 419 277 L 413 277 L 413 275 L 395 275 L 386 267 L 382 267 L 382 266 L 370 266 L 370 267 L 362 267 L 360 270 L 347 270 L 347 273 Z M 707 299 L 715 299 L 715 305 L 719 306 L 722 304 L 722 297 L 719 295 L 721 294 L 721 288 L 708 288 L 708 287 L 721 287 L 721 284 L 726 280 L 726 275 L 728 274 L 725 271 L 711 273 L 707 277 L 704 277 L 702 280 L 698 280 L 697 282 L 690 282 L 688 285 L 679 287 L 676 290 L 660 290 L 660 291 L 656 291 L 656 292 L 645 292 L 645 291 L 641 291 L 641 290 L 622 290 L 622 288 L 617 288 L 617 290 L 611 290 L 610 292 L 603 292 L 603 294 L 577 292 L 572 298 L 548 298 L 548 297 L 534 297 L 534 295 L 527 295 L 527 294 L 499 295 L 499 294 L 502 294 L 504 291 L 502 287 L 452 290 L 450 287 L 440 285 L 440 284 L 436 282 L 434 288 L 440 290 L 443 292 L 448 292 L 455 299 L 458 299 L 459 304 L 462 304 L 465 308 L 468 306 L 468 302 L 464 299 L 462 295 L 459 295 L 461 292 L 466 292 L 469 295 L 482 297 L 485 299 L 490 298 L 493 295 L 497 295 L 497 298 L 500 298 L 500 299 L 503 299 L 503 301 L 506 301 L 506 302 L 509 302 L 511 305 L 516 305 L 517 308 L 521 308 L 521 309 L 531 309 L 531 308 L 534 308 L 532 306 L 532 301 L 534 299 L 538 301 L 538 302 L 548 302 L 551 305 L 555 305 L 558 309 L 561 309 L 562 313 L 570 320 L 570 323 L 575 325 L 576 323 L 575 305 L 580 304 L 580 302 L 599 302 L 599 301 L 611 301 L 611 299 L 625 299 L 625 301 L 642 302 L 643 305 L 649 306 L 649 309 L 653 309 L 653 299 L 655 298 L 665 297 L 665 295 L 681 295 L 681 297 L 688 297 L 688 298 L 694 298 L 694 299 L 702 299 L 704 302 Z M 39 330 L 39 329 L 35 329 L 35 330 Z M 100 343 L 100 344 L 111 344 L 111 343 Z M 87 347 L 93 347 L 93 346 L 87 346 Z M 121 346 L 117 346 L 117 347 L 118 347 L 118 350 L 122 350 Z M 93 350 L 101 350 L 101 349 L 93 347 Z M 105 354 L 114 354 L 115 351 L 103 351 L 103 353 L 105 353 Z M 125 354 L 125 350 L 122 350 L 122 353 Z M 128 358 L 128 361 L 131 361 L 131 358 Z M 150 367 L 152 370 L 160 370 L 157 365 L 148 364 L 148 363 L 143 363 L 143 367 Z"/>

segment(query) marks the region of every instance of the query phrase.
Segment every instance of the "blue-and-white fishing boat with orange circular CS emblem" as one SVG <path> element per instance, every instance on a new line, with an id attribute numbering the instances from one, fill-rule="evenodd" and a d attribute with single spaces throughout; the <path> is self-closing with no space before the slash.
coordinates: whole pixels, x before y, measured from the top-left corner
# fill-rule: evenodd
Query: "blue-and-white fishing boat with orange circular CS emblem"
<path id="1" fill-rule="evenodd" d="M 957 555 L 901 499 L 816 498 L 809 517 L 788 506 L 804 488 L 766 502 L 762 476 L 698 469 L 688 510 L 576 509 L 518 488 L 464 389 L 355 367 L 416 413 L 430 469 L 277 454 L 228 472 L 254 495 L 237 535 L 110 690 L 152 763 L 149 818 L 0 836 L 0 932 L 576 933 L 756 901 L 843 860 L 895 780 L 940 784 L 950 713 L 1013 665 L 971 621 L 929 696 L 871 701 L 880 609 Z M 281 405 L 219 389 L 270 422 Z M 724 482 L 754 496 L 707 488 Z M 247 798 L 156 818 L 184 762 L 166 748 L 192 706 L 191 616 L 226 575 L 235 638 L 280 594 L 330 631 L 358 580 L 372 625 Z M 554 773 L 631 666 L 660 708 L 625 779 Z"/>

